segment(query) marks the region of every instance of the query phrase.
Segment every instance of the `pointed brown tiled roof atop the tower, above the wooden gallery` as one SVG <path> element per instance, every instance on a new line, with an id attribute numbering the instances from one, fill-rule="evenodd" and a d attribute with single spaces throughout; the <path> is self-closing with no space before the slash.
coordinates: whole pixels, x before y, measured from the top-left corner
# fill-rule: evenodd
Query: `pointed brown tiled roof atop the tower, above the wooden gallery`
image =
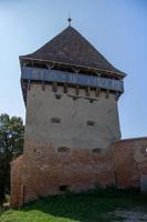
<path id="1" fill-rule="evenodd" d="M 125 75 L 113 67 L 78 31 L 67 27 L 35 52 L 20 59 L 36 59 L 71 65 L 111 71 Z"/>

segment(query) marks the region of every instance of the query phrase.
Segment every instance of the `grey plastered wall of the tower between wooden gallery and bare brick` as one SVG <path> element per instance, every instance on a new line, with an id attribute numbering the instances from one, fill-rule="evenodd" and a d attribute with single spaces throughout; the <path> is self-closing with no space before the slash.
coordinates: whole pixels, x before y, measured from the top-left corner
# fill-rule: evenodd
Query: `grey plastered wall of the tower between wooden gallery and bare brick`
<path id="1" fill-rule="evenodd" d="M 55 94 L 61 94 L 56 99 Z M 57 87 L 57 92 L 52 92 L 51 85 L 31 84 L 28 91 L 25 141 L 52 142 L 53 148 L 69 147 L 73 149 L 106 149 L 111 142 L 120 139 L 117 101 L 115 94 L 102 92 L 99 98 L 91 91 L 91 97 L 85 95 L 85 90 L 80 90 L 74 100 L 75 89 L 69 88 L 63 93 L 63 88 Z M 91 101 L 93 99 L 93 101 Z M 59 118 L 60 123 L 52 122 Z M 88 125 L 93 121 L 94 125 Z M 33 149 L 33 147 L 32 147 Z M 24 152 L 28 150 L 24 145 Z"/>

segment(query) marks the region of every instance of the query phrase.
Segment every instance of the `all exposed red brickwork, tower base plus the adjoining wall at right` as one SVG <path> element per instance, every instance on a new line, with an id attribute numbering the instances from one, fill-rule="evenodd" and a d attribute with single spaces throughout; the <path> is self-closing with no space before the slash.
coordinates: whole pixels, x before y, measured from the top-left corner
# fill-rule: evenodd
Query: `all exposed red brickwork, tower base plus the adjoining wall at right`
<path id="1" fill-rule="evenodd" d="M 96 185 L 140 188 L 147 175 L 147 138 L 114 142 L 107 150 L 55 151 L 52 143 L 28 141 L 28 152 L 11 163 L 11 205 Z M 33 147 L 33 149 L 32 149 Z M 30 149 L 29 149 L 30 148 Z"/>

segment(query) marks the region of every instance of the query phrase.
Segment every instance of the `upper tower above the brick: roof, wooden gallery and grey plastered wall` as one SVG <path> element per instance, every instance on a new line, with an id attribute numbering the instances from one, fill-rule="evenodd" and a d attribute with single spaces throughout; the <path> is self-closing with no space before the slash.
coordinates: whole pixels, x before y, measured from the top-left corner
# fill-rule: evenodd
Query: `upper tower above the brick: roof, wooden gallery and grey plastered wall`
<path id="1" fill-rule="evenodd" d="M 117 100 L 124 74 L 74 28 L 20 61 L 27 141 L 93 150 L 120 139 Z"/>

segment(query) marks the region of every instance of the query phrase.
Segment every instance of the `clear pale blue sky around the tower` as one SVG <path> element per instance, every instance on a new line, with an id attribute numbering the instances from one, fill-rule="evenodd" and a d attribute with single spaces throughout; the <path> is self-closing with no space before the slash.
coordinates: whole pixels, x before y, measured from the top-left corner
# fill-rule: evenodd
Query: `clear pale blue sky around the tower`
<path id="1" fill-rule="evenodd" d="M 122 138 L 147 137 L 147 0 L 0 0 L 0 113 L 25 120 L 19 56 L 67 27 L 67 18 L 127 73 L 118 101 Z"/>

